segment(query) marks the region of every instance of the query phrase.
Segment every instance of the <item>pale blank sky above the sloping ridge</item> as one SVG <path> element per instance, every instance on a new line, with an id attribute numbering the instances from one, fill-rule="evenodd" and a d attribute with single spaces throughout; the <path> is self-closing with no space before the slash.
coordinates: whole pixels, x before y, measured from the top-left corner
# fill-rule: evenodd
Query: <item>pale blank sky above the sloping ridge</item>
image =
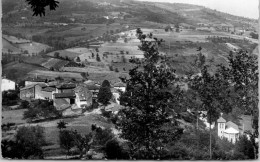
<path id="1" fill-rule="evenodd" d="M 188 3 L 216 9 L 232 15 L 258 19 L 259 0 L 138 0 L 151 2 Z"/>

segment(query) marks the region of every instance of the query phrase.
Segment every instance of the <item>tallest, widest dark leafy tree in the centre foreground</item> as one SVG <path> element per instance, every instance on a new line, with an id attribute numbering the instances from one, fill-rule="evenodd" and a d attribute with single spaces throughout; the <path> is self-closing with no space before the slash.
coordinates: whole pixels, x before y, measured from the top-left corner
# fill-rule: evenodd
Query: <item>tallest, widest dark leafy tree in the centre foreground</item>
<path id="1" fill-rule="evenodd" d="M 119 112 L 117 127 L 130 143 L 132 158 L 162 159 L 166 144 L 182 134 L 175 111 L 181 107 L 182 93 L 173 86 L 177 78 L 159 54 L 158 42 L 144 41 L 141 29 L 137 36 L 145 58 L 131 60 L 137 66 L 130 70 L 120 99 L 125 109 Z"/>

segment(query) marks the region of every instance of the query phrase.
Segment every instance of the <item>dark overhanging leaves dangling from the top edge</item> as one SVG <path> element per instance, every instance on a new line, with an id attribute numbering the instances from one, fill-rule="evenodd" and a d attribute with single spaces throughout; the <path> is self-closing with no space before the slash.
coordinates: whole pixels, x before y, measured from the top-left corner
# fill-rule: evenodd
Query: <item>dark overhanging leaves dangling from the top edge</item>
<path id="1" fill-rule="evenodd" d="M 26 0 L 33 10 L 33 16 L 45 16 L 45 7 L 49 6 L 50 10 L 55 10 L 58 7 L 59 2 L 56 0 Z"/>

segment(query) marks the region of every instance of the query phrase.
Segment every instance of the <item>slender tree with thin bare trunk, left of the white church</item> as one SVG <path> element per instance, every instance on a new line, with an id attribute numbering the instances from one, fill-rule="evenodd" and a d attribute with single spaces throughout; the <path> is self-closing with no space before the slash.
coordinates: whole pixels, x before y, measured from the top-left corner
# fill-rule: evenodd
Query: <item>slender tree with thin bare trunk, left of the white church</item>
<path id="1" fill-rule="evenodd" d="M 210 124 L 209 154 L 212 159 L 211 124 L 219 118 L 221 112 L 229 113 L 232 110 L 232 103 L 228 100 L 231 97 L 229 84 L 223 82 L 219 75 L 211 75 L 208 67 L 204 66 L 201 76 L 192 79 L 189 87 L 195 91 L 201 102 L 200 111 L 207 112 Z"/>

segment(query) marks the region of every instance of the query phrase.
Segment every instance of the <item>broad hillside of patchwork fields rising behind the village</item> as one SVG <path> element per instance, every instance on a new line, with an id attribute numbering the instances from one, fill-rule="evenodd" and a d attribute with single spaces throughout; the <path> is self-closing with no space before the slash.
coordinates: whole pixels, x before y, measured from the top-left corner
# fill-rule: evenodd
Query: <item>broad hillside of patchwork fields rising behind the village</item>
<path id="1" fill-rule="evenodd" d="M 78 56 L 86 66 L 102 66 L 105 71 L 110 68 L 112 71 L 117 69 L 126 73 L 131 65 L 123 65 L 124 59 L 143 57 L 138 49 L 139 42 L 134 36 L 137 27 L 141 27 L 147 34 L 152 32 L 154 37 L 165 41 L 160 52 L 170 58 L 169 64 L 181 75 L 196 72 L 192 62 L 198 47 L 202 47 L 202 53 L 212 65 L 212 71 L 216 65 L 226 64 L 226 57 L 233 50 L 232 47 L 254 54 L 257 52 L 257 40 L 250 38 L 250 32 L 254 32 L 257 26 L 253 19 L 190 4 L 134 0 L 106 2 L 60 0 L 55 11 L 47 10 L 46 16 L 33 17 L 25 1 L 3 0 L 2 30 L 6 35 L 3 38 L 6 57 L 27 50 L 30 54 L 46 53 L 44 57 L 49 59 L 58 52 L 61 57 L 59 59 L 68 57 L 75 61 Z M 167 26 L 173 27 L 174 32 L 166 32 Z M 179 32 L 175 31 L 176 26 L 180 28 Z M 240 31 L 245 32 L 241 34 Z M 12 39 L 6 41 L 6 37 Z M 19 45 L 12 42 L 15 39 L 34 43 Z M 50 47 L 55 50 L 45 52 Z M 71 51 L 74 48 L 90 50 Z M 98 63 L 97 55 L 100 55 L 101 63 Z M 62 60 L 58 62 L 60 61 Z M 14 67 L 16 66 L 10 68 Z M 5 66 L 4 73 L 10 68 Z"/>

